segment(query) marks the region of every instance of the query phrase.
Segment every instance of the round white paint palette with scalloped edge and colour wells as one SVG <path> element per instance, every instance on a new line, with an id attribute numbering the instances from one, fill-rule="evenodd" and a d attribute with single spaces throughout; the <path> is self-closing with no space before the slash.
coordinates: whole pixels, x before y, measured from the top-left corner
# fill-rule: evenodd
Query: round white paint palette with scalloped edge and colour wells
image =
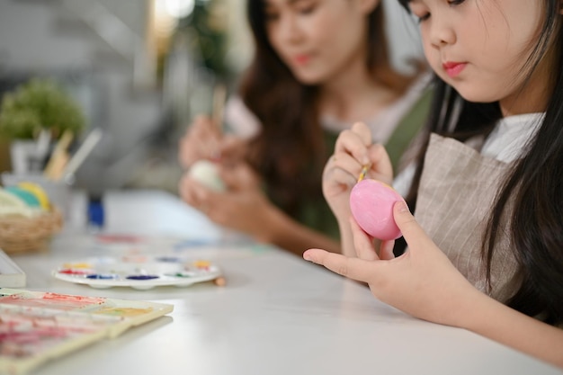
<path id="1" fill-rule="evenodd" d="M 52 275 L 62 281 L 103 289 L 130 287 L 148 290 L 157 286 L 183 287 L 221 276 L 219 267 L 206 260 L 177 255 L 130 254 L 101 256 L 64 263 Z"/>

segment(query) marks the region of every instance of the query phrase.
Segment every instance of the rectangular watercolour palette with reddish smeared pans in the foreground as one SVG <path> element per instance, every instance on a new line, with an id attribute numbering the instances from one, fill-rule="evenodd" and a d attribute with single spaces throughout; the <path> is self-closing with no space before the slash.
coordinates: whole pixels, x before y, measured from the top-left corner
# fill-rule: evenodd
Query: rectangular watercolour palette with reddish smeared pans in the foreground
<path id="1" fill-rule="evenodd" d="M 173 308 L 139 300 L 0 288 L 0 373 L 31 371 Z"/>

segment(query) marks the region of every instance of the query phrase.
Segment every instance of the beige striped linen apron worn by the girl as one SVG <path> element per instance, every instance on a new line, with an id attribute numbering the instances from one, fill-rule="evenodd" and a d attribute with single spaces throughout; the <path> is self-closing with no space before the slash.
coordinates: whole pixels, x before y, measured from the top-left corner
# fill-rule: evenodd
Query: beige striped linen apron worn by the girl
<path id="1" fill-rule="evenodd" d="M 505 302 L 520 285 L 510 239 L 501 232 L 487 289 L 481 241 L 499 183 L 509 165 L 481 156 L 453 138 L 433 134 L 416 202 L 416 220 L 451 263 L 478 289 Z M 511 217 L 512 204 L 507 208 Z"/>

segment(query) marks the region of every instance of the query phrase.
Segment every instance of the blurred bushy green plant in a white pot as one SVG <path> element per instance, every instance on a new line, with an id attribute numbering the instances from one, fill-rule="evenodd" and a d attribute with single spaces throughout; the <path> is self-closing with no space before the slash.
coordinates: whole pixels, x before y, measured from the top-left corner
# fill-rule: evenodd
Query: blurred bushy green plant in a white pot
<path id="1" fill-rule="evenodd" d="M 37 172 L 32 169 L 38 167 L 30 167 L 30 160 L 47 156 L 45 142 L 49 144 L 65 133 L 76 137 L 83 129 L 82 108 L 52 79 L 33 78 L 2 98 L 0 138 L 11 142 L 14 173 Z"/>

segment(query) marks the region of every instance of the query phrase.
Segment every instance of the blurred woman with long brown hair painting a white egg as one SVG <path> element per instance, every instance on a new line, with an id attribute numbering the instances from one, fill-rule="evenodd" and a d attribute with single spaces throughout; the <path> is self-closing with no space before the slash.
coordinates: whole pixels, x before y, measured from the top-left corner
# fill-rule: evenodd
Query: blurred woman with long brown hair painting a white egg
<path id="1" fill-rule="evenodd" d="M 404 76 L 390 66 L 378 0 L 250 0 L 247 15 L 255 56 L 225 113 L 234 137 L 199 117 L 179 155 L 189 167 L 220 148 L 228 192 L 187 174 L 181 196 L 214 222 L 295 254 L 339 251 L 321 192 L 326 158 L 338 133 L 362 119 L 398 164 L 429 106 L 423 69 Z"/>

